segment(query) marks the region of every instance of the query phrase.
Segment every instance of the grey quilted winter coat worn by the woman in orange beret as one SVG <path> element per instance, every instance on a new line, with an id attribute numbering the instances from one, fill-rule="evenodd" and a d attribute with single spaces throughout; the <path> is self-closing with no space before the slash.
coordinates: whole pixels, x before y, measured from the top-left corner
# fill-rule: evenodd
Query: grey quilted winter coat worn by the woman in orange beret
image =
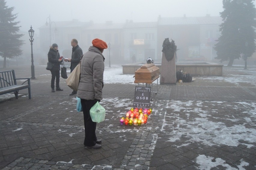
<path id="1" fill-rule="evenodd" d="M 81 60 L 81 77 L 77 97 L 85 100 L 102 100 L 104 56 L 100 50 L 90 46 Z"/>

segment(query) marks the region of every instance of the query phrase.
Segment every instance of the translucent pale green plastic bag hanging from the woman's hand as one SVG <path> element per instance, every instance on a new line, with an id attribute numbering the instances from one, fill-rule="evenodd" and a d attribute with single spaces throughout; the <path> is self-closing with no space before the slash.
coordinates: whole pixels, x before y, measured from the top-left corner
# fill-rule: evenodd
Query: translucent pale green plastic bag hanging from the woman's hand
<path id="1" fill-rule="evenodd" d="M 105 120 L 106 111 L 104 107 L 102 107 L 99 102 L 95 103 L 95 105 L 90 109 L 90 115 L 93 122 L 102 122 Z"/>

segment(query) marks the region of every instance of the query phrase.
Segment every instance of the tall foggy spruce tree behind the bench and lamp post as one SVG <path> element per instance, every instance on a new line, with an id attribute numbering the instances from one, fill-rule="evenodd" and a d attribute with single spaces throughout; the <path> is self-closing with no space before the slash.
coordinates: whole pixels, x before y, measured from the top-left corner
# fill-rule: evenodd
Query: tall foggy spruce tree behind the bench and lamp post
<path id="1" fill-rule="evenodd" d="M 3 68 L 6 68 L 6 58 L 18 57 L 22 54 L 20 46 L 23 40 L 19 40 L 23 34 L 16 34 L 20 31 L 20 22 L 14 22 L 17 14 L 12 14 L 14 7 L 6 6 L 5 0 L 0 0 L 0 55 L 4 58 Z"/>

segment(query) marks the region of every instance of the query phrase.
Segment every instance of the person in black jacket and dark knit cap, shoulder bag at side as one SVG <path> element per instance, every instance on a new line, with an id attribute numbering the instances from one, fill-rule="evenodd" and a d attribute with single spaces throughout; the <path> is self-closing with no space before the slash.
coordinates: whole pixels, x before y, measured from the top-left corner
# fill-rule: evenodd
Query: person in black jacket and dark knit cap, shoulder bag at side
<path id="1" fill-rule="evenodd" d="M 56 43 L 53 43 L 53 45 L 50 47 L 50 50 L 48 52 L 48 62 L 53 63 L 53 68 L 50 70 L 52 74 L 51 79 L 51 88 L 52 92 L 54 91 L 54 82 L 56 77 L 56 91 L 63 91 L 59 87 L 59 70 L 60 70 L 60 63 L 62 62 L 62 59 L 59 59 L 59 50 L 58 45 Z"/>

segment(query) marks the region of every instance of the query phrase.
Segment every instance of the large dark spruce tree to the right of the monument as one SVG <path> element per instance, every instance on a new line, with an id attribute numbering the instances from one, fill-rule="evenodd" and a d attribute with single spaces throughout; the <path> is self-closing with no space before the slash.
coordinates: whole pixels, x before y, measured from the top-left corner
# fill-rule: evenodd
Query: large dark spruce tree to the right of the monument
<path id="1" fill-rule="evenodd" d="M 216 59 L 229 61 L 250 57 L 255 51 L 256 9 L 254 0 L 223 0 L 224 11 L 221 12 L 223 23 L 220 25 L 221 36 L 214 49 Z"/>

